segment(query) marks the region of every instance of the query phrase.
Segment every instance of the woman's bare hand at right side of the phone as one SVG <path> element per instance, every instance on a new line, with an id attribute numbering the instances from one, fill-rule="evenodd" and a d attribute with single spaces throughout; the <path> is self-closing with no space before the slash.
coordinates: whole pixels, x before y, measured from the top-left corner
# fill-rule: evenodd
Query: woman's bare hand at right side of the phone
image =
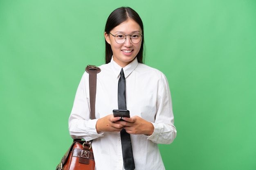
<path id="1" fill-rule="evenodd" d="M 151 122 L 142 119 L 139 116 L 134 116 L 132 118 L 123 118 L 125 121 L 118 121 L 118 124 L 123 125 L 123 128 L 127 133 L 130 134 L 144 134 L 152 135 L 154 132 L 154 126 Z"/>

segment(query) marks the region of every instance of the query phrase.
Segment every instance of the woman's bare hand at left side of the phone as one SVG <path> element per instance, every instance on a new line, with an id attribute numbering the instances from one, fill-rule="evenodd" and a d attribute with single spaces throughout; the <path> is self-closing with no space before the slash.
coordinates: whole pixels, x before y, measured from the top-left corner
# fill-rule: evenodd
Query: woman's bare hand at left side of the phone
<path id="1" fill-rule="evenodd" d="M 117 123 L 121 117 L 114 117 L 113 114 L 100 118 L 96 123 L 97 132 L 120 132 L 124 125 Z"/>

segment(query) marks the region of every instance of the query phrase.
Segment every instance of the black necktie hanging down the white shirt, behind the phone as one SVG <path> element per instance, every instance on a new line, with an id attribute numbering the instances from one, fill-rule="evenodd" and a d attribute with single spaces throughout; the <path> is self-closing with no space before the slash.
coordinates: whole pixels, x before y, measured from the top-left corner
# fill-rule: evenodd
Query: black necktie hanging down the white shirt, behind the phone
<path id="1" fill-rule="evenodd" d="M 120 72 L 120 78 L 118 81 L 118 109 L 126 110 L 126 98 L 125 98 L 125 77 L 123 68 Z M 124 169 L 125 170 L 134 170 L 135 164 L 132 155 L 132 143 L 130 139 L 130 134 L 126 132 L 125 129 L 122 129 L 121 132 L 121 143 L 122 143 L 122 152 L 124 160 Z"/>

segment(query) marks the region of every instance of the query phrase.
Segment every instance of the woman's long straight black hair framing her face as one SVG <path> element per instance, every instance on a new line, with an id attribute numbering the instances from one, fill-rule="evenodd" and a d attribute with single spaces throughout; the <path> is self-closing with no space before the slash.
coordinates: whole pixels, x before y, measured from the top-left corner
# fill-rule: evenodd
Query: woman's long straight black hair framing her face
<path id="1" fill-rule="evenodd" d="M 143 37 L 141 39 L 141 47 L 136 57 L 139 63 L 143 63 L 144 61 L 144 58 L 143 58 L 144 29 L 143 29 L 142 20 L 136 11 L 134 11 L 130 7 L 121 7 L 121 8 L 115 9 L 108 17 L 108 20 L 105 26 L 105 32 L 109 34 L 113 28 L 125 22 L 129 18 L 137 22 L 142 30 Z M 106 51 L 105 51 L 106 63 L 109 63 L 112 58 L 113 52 L 110 44 L 108 44 L 106 39 L 105 39 L 105 44 L 106 44 Z"/>

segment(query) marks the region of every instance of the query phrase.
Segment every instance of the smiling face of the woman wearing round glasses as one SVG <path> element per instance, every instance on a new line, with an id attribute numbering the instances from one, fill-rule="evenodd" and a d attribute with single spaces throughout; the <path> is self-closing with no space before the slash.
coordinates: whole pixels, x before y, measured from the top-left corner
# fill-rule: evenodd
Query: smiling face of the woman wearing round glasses
<path id="1" fill-rule="evenodd" d="M 135 59 L 141 47 L 142 38 L 138 44 L 134 44 L 130 39 L 130 35 L 133 33 L 142 34 L 142 30 L 137 22 L 128 19 L 113 28 L 110 33 L 112 35 L 116 35 L 118 33 L 123 33 L 127 35 L 124 44 L 117 44 L 114 36 L 112 36 L 111 34 L 107 34 L 106 32 L 104 34 L 106 41 L 111 46 L 113 52 L 113 60 L 122 68 L 124 68 Z"/>

